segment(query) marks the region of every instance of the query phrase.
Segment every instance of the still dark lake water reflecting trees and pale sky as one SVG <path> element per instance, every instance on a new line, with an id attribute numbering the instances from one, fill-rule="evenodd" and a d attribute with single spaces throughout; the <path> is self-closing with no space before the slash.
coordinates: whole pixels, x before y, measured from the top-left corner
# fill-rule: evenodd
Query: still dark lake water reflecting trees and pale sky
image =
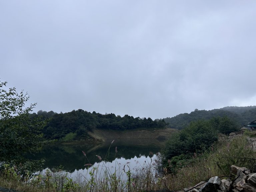
<path id="1" fill-rule="evenodd" d="M 44 168 L 63 166 L 72 177 L 88 175 L 93 167 L 102 171 L 107 168 L 111 173 L 128 170 L 136 172 L 153 164 L 156 161 L 155 154 L 164 146 L 164 141 L 154 139 L 116 139 L 111 142 L 106 140 L 95 146 L 86 143 L 48 145 L 35 158 L 46 160 Z"/>

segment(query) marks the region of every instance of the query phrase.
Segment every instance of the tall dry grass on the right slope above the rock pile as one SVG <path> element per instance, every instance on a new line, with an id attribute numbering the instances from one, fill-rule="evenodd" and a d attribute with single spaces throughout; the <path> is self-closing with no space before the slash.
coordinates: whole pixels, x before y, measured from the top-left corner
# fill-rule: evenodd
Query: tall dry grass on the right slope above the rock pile
<path id="1" fill-rule="evenodd" d="M 237 136 L 231 141 L 223 140 L 215 146 L 217 149 L 197 155 L 189 166 L 168 175 L 164 182 L 169 189 L 180 190 L 206 181 L 213 176 L 229 176 L 230 166 L 236 165 L 255 170 L 256 152 L 253 143 L 244 136 Z"/>

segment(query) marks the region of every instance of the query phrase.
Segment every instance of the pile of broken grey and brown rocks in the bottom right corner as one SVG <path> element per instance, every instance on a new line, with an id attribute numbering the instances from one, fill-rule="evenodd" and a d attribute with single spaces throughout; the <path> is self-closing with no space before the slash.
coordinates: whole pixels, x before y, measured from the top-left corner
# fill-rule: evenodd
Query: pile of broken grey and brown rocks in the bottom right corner
<path id="1" fill-rule="evenodd" d="M 251 173 L 245 167 L 230 167 L 228 179 L 218 176 L 210 178 L 207 182 L 200 182 L 194 187 L 184 189 L 184 192 L 256 192 L 256 173 Z"/>

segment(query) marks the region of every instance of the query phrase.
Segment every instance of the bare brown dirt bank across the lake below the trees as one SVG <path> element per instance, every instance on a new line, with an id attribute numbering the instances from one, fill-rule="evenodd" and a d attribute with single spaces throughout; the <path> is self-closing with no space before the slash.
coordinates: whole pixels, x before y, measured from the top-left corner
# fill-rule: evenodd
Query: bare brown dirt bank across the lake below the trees
<path id="1" fill-rule="evenodd" d="M 88 132 L 90 136 L 99 140 L 108 139 L 167 139 L 170 135 L 177 132 L 176 129 L 159 129 L 159 130 L 132 130 L 132 131 L 115 131 L 94 129 Z"/>

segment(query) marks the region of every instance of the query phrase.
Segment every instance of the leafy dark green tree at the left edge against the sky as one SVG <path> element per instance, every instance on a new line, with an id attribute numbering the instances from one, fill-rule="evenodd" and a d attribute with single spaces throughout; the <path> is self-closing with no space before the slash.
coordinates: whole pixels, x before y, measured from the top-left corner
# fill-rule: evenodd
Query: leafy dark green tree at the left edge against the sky
<path id="1" fill-rule="evenodd" d="M 0 82 L 0 161 L 24 163 L 26 153 L 38 152 L 42 147 L 44 121 L 31 119 L 29 112 L 34 104 L 25 107 L 29 96 L 16 88 L 4 89 L 7 82 Z"/>

